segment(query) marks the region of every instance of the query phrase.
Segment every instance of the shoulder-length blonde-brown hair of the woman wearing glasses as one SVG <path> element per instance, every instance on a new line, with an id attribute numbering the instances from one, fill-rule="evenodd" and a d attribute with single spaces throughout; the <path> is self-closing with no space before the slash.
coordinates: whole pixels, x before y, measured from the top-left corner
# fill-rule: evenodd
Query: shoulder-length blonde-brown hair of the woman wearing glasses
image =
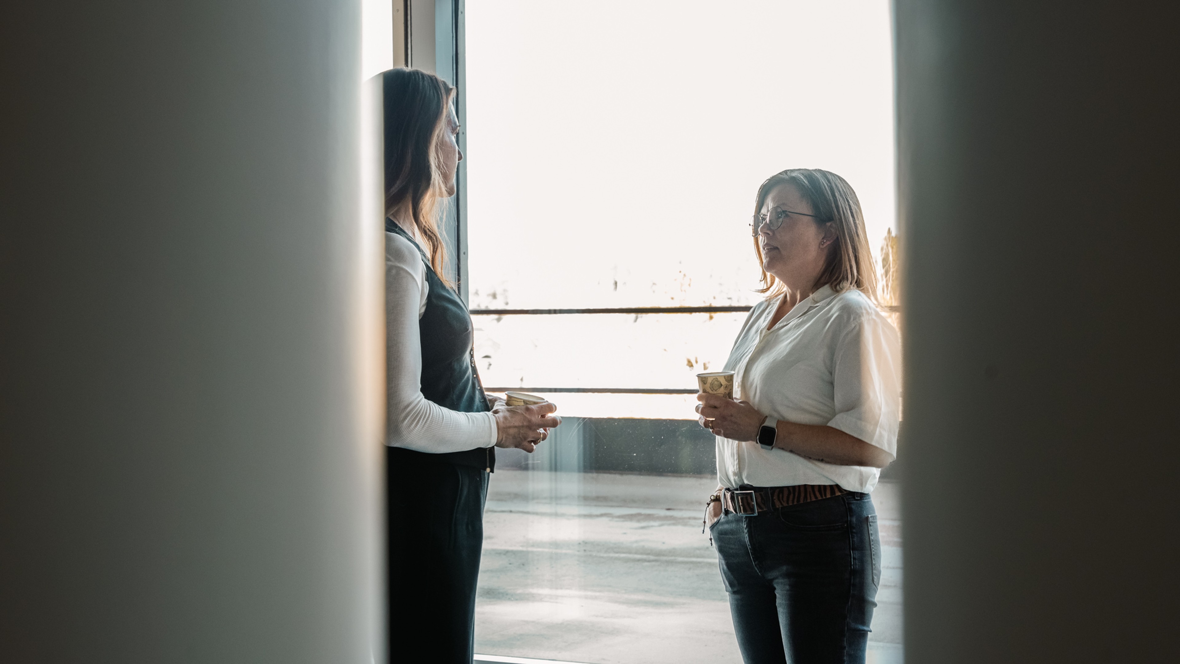
<path id="1" fill-rule="evenodd" d="M 754 198 L 754 215 L 762 212 L 766 196 L 774 188 L 789 184 L 806 199 L 815 215 L 817 224 L 832 222 L 835 230 L 835 242 L 828 251 L 827 264 L 819 278 L 812 284 L 819 289 L 831 285 L 837 292 L 854 288 L 864 292 L 873 303 L 877 297 L 877 268 L 868 249 L 868 234 L 865 231 L 865 217 L 860 212 L 860 200 L 852 185 L 831 171 L 819 169 L 788 169 L 775 173 L 758 188 Z M 762 246 L 754 237 L 754 252 L 758 264 L 762 264 Z M 775 297 L 786 290 L 786 284 L 774 278 L 774 275 L 762 270 L 762 288 L 758 292 Z"/>

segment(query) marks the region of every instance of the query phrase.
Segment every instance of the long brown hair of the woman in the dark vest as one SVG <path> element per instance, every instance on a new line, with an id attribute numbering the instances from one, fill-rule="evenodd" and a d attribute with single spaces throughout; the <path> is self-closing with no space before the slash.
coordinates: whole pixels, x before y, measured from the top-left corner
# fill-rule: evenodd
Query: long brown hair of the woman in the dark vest
<path id="1" fill-rule="evenodd" d="M 446 243 L 438 221 L 445 209 L 446 184 L 435 150 L 446 131 L 454 88 L 421 70 L 398 67 L 381 73 L 385 120 L 385 213 L 409 202 L 418 232 L 426 242 L 431 267 L 442 283 L 446 277 Z"/>

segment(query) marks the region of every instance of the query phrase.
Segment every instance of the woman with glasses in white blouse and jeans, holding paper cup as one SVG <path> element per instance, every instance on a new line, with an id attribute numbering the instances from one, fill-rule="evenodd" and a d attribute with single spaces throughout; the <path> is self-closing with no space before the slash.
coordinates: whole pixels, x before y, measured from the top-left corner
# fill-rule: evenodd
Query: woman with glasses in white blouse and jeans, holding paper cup
<path id="1" fill-rule="evenodd" d="M 870 493 L 897 451 L 897 330 L 844 178 L 775 175 L 753 231 L 767 297 L 726 363 L 735 400 L 699 394 L 696 407 L 716 434 L 708 520 L 738 643 L 747 664 L 863 664 L 880 580 Z"/>

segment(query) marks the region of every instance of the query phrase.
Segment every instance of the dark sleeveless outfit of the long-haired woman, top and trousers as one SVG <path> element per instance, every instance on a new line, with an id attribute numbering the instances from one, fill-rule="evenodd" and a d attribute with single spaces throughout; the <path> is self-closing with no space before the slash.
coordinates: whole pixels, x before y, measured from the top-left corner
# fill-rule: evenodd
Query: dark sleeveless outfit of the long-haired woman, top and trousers
<path id="1" fill-rule="evenodd" d="M 430 290 L 419 320 L 422 396 L 452 410 L 486 412 L 467 307 L 401 226 L 386 219 L 385 230 L 418 248 L 425 265 Z M 484 501 L 496 451 L 386 451 L 389 662 L 421 653 L 430 662 L 471 664 Z"/>

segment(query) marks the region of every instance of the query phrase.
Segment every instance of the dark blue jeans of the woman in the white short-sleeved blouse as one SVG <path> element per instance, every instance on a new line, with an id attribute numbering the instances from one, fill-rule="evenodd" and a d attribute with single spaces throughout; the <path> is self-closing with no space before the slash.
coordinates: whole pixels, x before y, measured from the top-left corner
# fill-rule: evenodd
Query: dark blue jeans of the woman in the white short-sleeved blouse
<path id="1" fill-rule="evenodd" d="M 867 493 L 726 513 L 710 534 L 746 664 L 864 664 L 881 570 Z"/>

